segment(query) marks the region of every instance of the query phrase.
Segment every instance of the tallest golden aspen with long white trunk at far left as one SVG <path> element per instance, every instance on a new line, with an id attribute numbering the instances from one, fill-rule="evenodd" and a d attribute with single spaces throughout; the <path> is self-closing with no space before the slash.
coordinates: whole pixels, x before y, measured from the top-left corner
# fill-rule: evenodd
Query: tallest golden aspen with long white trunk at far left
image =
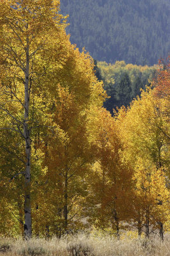
<path id="1" fill-rule="evenodd" d="M 59 14 L 59 1 L 3 0 L 0 10 L 0 109 L 2 115 L 10 118 L 5 129 L 19 133 L 25 141 L 24 230 L 25 237 L 31 237 L 31 141 L 32 127 L 38 125 L 34 119 L 33 93 L 40 97 L 49 84 L 47 79 L 45 85 L 42 78 L 45 74 L 48 77 L 49 52 L 53 49 L 53 58 L 57 56 L 55 67 L 64 61 L 56 44 L 60 45 L 59 33 L 61 37 L 65 25 Z"/>

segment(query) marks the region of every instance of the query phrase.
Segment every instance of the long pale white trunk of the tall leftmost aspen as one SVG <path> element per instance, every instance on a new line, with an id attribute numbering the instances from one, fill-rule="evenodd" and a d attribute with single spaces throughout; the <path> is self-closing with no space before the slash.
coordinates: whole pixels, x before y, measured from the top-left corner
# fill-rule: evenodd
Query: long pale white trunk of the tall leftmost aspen
<path id="1" fill-rule="evenodd" d="M 25 109 L 24 109 L 24 137 L 25 137 L 25 239 L 31 238 L 31 138 L 29 134 L 29 38 L 27 38 L 26 70 L 25 70 Z"/>

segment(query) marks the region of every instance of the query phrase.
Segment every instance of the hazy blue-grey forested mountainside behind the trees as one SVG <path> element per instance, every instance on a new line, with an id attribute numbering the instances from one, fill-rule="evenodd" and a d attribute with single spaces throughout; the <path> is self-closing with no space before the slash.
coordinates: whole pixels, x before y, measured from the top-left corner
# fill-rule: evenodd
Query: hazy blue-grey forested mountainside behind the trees
<path id="1" fill-rule="evenodd" d="M 71 42 L 98 61 L 153 65 L 169 51 L 168 0 L 61 0 Z"/>

